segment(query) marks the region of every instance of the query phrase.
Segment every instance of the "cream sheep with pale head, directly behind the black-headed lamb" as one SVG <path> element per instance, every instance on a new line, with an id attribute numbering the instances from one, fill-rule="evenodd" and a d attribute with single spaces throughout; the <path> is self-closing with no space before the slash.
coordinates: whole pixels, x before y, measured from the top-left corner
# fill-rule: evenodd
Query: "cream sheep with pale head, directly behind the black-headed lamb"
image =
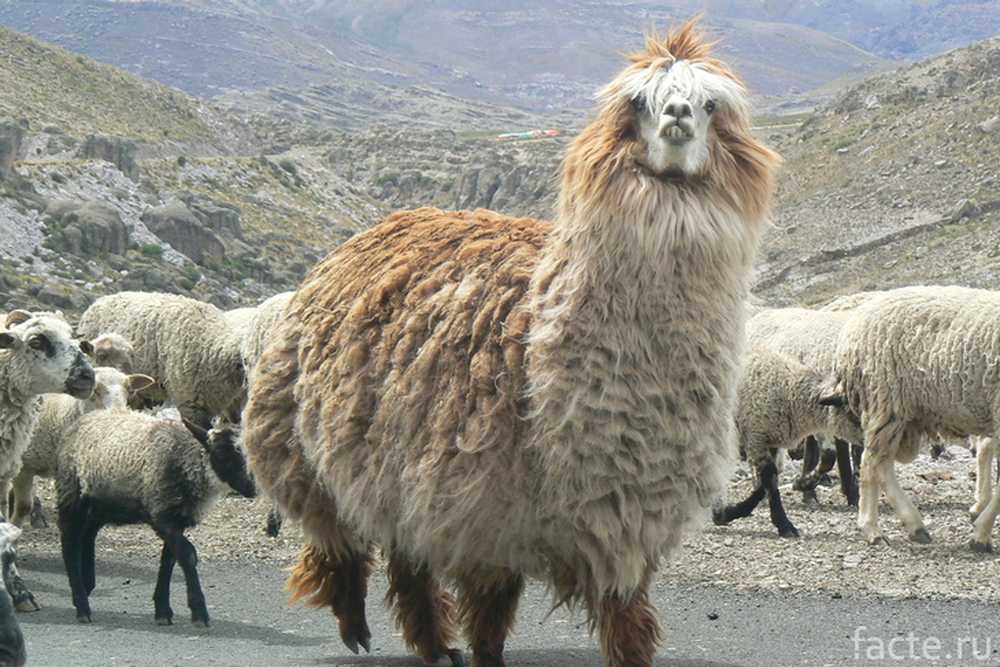
<path id="1" fill-rule="evenodd" d="M 96 343 L 95 343 L 96 345 Z M 152 386 L 156 381 L 148 375 L 125 375 L 121 371 L 98 366 L 93 394 L 87 399 L 75 399 L 65 394 L 46 394 L 41 414 L 31 434 L 31 442 L 21 459 L 21 471 L 14 478 L 13 516 L 11 522 L 21 526 L 30 514 L 33 527 L 47 525 L 41 504 L 34 494 L 35 477 L 52 478 L 59 466 L 64 434 L 82 415 L 93 410 L 125 408 L 130 397 Z"/>

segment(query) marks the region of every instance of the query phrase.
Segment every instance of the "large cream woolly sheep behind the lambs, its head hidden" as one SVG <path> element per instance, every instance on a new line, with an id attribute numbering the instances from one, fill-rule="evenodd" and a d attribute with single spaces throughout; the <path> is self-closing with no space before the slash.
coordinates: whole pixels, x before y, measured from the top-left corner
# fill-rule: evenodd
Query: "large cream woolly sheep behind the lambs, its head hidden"
<path id="1" fill-rule="evenodd" d="M 215 306 L 175 294 L 119 292 L 80 318 L 87 337 L 117 333 L 135 346 L 135 373 L 155 377 L 185 418 L 203 427 L 245 394 L 240 337 Z"/>

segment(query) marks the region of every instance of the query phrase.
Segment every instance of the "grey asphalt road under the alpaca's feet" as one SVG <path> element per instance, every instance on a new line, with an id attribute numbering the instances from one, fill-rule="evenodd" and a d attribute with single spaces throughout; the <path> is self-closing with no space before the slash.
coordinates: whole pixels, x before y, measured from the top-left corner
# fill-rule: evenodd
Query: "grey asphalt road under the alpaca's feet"
<path id="1" fill-rule="evenodd" d="M 354 656 L 341 645 L 328 611 L 286 603 L 284 573 L 267 563 L 201 563 L 212 615 L 211 627 L 203 630 L 187 620 L 179 568 L 172 587 L 175 625 L 159 627 L 153 623 L 151 602 L 157 563 L 99 558 L 91 598 L 94 622 L 79 625 L 62 563 L 25 554 L 22 575 L 44 606 L 20 616 L 29 665 L 421 664 L 404 650 L 381 605 L 385 579 L 380 574 L 373 576 L 369 594 L 372 655 Z M 1000 660 L 1000 614 L 984 604 L 850 595 L 834 599 L 705 586 L 662 586 L 655 597 L 666 631 L 657 667 L 980 665 Z M 599 667 L 596 645 L 580 617 L 557 611 L 545 619 L 548 610 L 544 590 L 530 586 L 507 644 L 508 667 Z M 859 631 L 859 626 L 866 629 Z M 897 641 L 890 645 L 892 639 Z M 935 642 L 940 644 L 937 651 Z M 940 659 L 925 659 L 935 655 Z"/>

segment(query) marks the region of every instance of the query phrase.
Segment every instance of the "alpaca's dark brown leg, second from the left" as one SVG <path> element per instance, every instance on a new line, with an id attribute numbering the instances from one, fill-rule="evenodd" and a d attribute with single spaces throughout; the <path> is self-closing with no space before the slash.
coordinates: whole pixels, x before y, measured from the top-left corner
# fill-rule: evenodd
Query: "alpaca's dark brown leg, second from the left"
<path id="1" fill-rule="evenodd" d="M 403 641 L 426 664 L 448 656 L 453 667 L 465 664 L 455 642 L 455 601 L 442 590 L 424 565 L 414 567 L 393 551 L 389 557 L 386 604 L 394 610 Z"/>

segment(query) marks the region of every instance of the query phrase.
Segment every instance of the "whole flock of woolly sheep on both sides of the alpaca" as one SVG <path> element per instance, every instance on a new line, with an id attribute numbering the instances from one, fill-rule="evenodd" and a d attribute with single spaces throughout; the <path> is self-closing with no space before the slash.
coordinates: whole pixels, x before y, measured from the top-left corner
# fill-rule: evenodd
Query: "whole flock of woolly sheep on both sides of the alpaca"
<path id="1" fill-rule="evenodd" d="M 0 333 L 0 492 L 11 499 L 14 525 L 0 524 L 0 553 L 12 551 L 17 526 L 44 521 L 34 478 L 55 478 L 81 622 L 91 617 L 98 531 L 146 523 L 163 541 L 156 621 L 171 622 L 170 574 L 178 563 L 192 621 L 208 624 L 195 548 L 183 533 L 220 492 L 255 495 L 235 425 L 290 297 L 222 312 L 174 295 L 119 293 L 95 302 L 75 330 L 58 313 L 8 314 Z M 815 436 L 865 446 L 854 474 L 867 541 L 884 539 L 877 524 L 884 491 L 910 539 L 927 542 L 895 463 L 913 460 L 926 439 L 978 436 L 971 545 L 990 549 L 1000 511 L 990 475 L 1000 421 L 1000 294 L 922 286 L 818 309 L 758 308 L 748 340 L 736 430 L 756 484 L 740 503 L 717 503 L 716 523 L 748 515 L 766 496 L 778 532 L 798 536 L 782 508 L 777 454 Z M 149 407 L 155 403 L 170 407 Z M 3 563 L 14 605 L 33 608 L 13 557 Z M 6 608 L 8 623 L 16 623 L 9 607 L 0 604 L 0 616 Z"/>

